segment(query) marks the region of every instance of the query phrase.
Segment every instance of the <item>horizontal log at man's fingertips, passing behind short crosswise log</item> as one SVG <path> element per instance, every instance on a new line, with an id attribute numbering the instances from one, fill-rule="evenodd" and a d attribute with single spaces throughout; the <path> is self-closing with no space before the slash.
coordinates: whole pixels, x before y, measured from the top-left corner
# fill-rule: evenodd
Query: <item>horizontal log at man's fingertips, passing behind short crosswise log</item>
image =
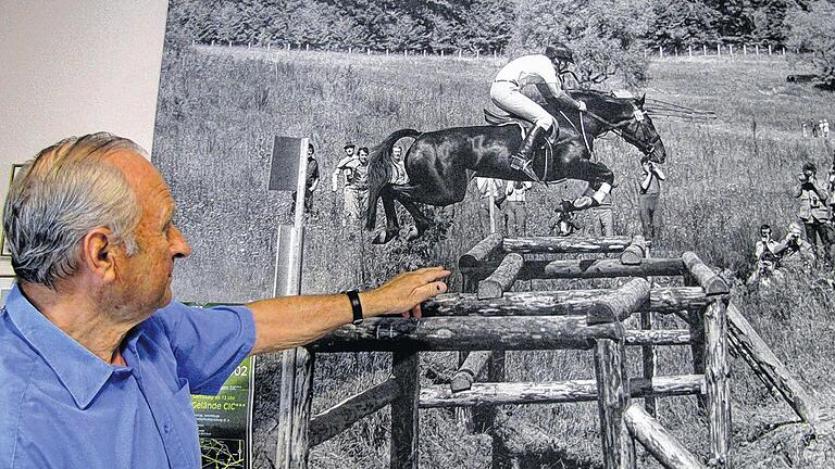
<path id="1" fill-rule="evenodd" d="M 606 289 L 509 292 L 489 300 L 478 300 L 472 293 L 446 293 L 425 302 L 421 310 L 423 317 L 586 315 L 611 292 Z M 710 300 L 701 287 L 653 288 L 640 309 L 664 315 L 701 310 Z"/>

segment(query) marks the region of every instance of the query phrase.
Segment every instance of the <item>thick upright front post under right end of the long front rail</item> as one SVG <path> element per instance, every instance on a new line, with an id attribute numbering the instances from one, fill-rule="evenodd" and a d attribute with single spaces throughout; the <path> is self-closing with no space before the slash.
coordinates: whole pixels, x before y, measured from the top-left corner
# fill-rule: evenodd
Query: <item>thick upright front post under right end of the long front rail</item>
<path id="1" fill-rule="evenodd" d="M 620 326 L 620 325 L 619 325 Z M 635 446 L 623 422 L 630 405 L 623 341 L 599 339 L 595 345 L 597 406 L 606 469 L 635 467 Z"/>

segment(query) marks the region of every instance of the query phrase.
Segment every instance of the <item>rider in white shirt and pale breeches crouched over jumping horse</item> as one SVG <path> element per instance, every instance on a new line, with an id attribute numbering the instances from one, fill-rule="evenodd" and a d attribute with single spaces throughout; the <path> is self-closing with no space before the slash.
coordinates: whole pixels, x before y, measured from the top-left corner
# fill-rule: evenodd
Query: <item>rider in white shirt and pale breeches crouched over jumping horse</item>
<path id="1" fill-rule="evenodd" d="M 504 65 L 493 81 L 490 99 L 501 110 L 534 123 L 534 128 L 525 138 L 519 151 L 510 157 L 510 167 L 521 170 L 531 179 L 538 181 L 534 173 L 533 153 L 538 140 L 557 125 L 553 116 L 539 104 L 522 94 L 525 85 L 545 83 L 553 98 L 566 106 L 586 110 L 586 103 L 571 98 L 562 90 L 559 73 L 565 71 L 569 63 L 574 63 L 574 53 L 562 42 L 554 42 L 545 48 L 541 54 L 523 55 Z M 547 98 L 547 97 L 546 97 Z"/>

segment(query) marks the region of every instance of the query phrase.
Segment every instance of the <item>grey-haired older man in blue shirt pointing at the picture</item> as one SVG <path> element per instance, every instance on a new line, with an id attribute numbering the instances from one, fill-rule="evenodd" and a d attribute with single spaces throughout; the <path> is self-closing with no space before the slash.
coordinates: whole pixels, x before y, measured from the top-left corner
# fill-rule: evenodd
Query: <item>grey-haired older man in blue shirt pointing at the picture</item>
<path id="1" fill-rule="evenodd" d="M 3 226 L 17 286 L 0 312 L 0 467 L 198 468 L 189 394 L 250 353 L 303 345 L 446 291 L 426 268 L 376 290 L 198 309 L 172 302 L 191 252 L 165 182 L 129 140 L 63 140 L 17 176 Z M 406 312 L 406 313 L 404 313 Z"/>

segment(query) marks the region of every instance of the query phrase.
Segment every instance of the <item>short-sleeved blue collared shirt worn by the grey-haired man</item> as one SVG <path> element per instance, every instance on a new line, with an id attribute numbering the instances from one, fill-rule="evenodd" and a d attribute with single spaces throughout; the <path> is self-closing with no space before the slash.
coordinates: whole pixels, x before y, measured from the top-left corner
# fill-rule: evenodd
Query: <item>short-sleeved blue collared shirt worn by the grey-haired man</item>
<path id="1" fill-rule="evenodd" d="M 190 394 L 216 394 L 254 340 L 245 307 L 172 302 L 112 366 L 15 287 L 0 310 L 0 468 L 199 468 Z"/>

